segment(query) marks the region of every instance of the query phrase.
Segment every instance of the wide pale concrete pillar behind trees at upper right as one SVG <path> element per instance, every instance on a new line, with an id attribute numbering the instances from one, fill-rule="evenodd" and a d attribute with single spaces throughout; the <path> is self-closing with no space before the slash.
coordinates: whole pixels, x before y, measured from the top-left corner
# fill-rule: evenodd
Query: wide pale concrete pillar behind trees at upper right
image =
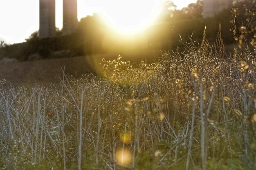
<path id="1" fill-rule="evenodd" d="M 233 0 L 203 0 L 203 17 L 213 17 L 223 9 L 232 6 Z"/>

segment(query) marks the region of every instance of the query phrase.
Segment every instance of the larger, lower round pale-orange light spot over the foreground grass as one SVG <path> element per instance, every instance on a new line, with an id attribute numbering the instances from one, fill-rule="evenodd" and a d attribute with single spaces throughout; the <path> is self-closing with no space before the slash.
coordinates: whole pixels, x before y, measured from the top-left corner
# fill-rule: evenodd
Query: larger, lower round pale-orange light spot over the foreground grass
<path id="1" fill-rule="evenodd" d="M 115 159 L 121 165 L 129 165 L 132 162 L 132 153 L 126 148 L 118 149 L 115 152 Z"/>

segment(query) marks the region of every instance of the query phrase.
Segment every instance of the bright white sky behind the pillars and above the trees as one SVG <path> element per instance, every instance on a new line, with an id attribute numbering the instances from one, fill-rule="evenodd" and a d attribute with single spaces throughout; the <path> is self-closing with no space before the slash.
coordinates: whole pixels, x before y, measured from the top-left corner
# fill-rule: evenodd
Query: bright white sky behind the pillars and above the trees
<path id="1" fill-rule="evenodd" d="M 130 1 L 136 2 L 136 5 L 126 3 Z M 129 15 L 132 13 L 138 15 L 141 13 L 141 6 L 144 7 L 142 9 L 144 15 L 148 15 L 145 11 L 152 11 L 152 6 L 159 1 L 161 0 L 78 0 L 78 19 L 91 15 L 93 12 L 102 11 L 118 21 L 117 17 L 120 18 L 120 11 L 124 12 L 125 10 L 127 13 L 129 12 Z M 181 9 L 196 0 L 173 0 L 173 2 L 177 5 L 177 9 Z M 132 6 L 133 9 L 130 10 L 129 6 Z M 136 8 L 134 9 L 134 7 Z M 122 15 L 121 17 L 127 16 Z M 141 17 L 147 18 L 147 16 Z M 62 0 L 56 0 L 56 27 L 62 28 Z M 25 38 L 38 29 L 39 0 L 0 0 L 0 40 L 9 44 L 24 42 Z"/>

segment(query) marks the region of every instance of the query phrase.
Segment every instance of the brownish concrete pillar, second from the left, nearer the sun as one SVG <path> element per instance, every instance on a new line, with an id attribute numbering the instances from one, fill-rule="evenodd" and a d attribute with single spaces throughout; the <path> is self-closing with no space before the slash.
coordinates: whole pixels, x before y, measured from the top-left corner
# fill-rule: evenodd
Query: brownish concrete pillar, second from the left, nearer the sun
<path id="1" fill-rule="evenodd" d="M 77 24 L 77 0 L 63 0 L 62 35 L 74 33 Z"/>

